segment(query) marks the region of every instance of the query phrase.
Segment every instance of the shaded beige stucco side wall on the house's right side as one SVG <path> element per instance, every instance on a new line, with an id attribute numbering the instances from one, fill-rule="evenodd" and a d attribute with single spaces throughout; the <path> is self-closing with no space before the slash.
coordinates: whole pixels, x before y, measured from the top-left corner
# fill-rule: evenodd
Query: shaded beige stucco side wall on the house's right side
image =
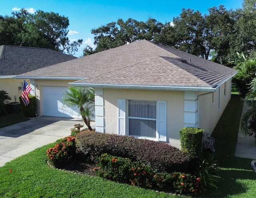
<path id="1" fill-rule="evenodd" d="M 217 125 L 226 105 L 231 98 L 230 90 L 231 81 L 226 82 L 226 96 L 224 96 L 224 83 L 220 86 L 220 110 L 218 111 L 218 90 L 214 93 L 202 95 L 205 92 L 198 93 L 198 128 L 204 129 L 207 133 L 212 134 Z M 213 100 L 212 100 L 213 94 Z M 213 101 L 213 103 L 212 103 Z"/>

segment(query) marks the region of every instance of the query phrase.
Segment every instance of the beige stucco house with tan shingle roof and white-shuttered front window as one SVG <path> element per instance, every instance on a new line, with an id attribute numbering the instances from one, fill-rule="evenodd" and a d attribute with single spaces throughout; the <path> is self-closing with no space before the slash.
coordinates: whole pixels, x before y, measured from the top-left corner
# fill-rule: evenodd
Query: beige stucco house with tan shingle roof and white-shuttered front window
<path id="1" fill-rule="evenodd" d="M 16 78 L 29 78 L 37 85 L 38 115 L 49 115 L 45 100 L 60 94 L 59 89 L 93 87 L 96 131 L 166 141 L 180 148 L 182 127 L 212 133 L 230 100 L 235 74 L 224 65 L 141 40 Z M 61 108 L 56 111 L 65 114 Z"/>

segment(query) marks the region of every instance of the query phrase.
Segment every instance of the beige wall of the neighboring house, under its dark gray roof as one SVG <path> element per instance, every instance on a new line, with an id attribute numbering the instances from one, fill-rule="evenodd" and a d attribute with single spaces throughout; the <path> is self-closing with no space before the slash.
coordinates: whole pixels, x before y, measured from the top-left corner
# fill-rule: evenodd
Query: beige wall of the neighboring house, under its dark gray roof
<path id="1" fill-rule="evenodd" d="M 25 79 L 29 84 L 29 79 Z M 10 78 L 0 78 L 0 90 L 6 91 L 8 95 L 12 98 L 9 102 L 15 102 L 14 96 L 17 96 L 16 102 L 20 102 L 19 97 L 22 95 L 22 90 L 18 91 L 18 83 L 23 83 L 24 79 L 14 79 Z"/>

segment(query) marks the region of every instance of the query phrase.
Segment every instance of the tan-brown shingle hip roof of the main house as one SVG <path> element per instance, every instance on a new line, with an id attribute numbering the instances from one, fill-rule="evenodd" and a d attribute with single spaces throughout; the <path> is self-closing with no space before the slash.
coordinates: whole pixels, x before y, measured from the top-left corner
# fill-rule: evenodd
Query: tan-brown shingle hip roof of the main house
<path id="1" fill-rule="evenodd" d="M 84 77 L 77 84 L 213 87 L 236 70 L 171 48 L 141 40 L 19 77 Z"/>

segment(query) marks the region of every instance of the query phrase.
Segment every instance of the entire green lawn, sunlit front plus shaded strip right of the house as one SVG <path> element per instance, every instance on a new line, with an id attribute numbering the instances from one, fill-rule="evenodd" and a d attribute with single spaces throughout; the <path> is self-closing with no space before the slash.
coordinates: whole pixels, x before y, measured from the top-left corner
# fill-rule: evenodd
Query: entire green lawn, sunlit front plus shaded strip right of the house
<path id="1" fill-rule="evenodd" d="M 237 158 L 234 149 L 237 139 L 242 101 L 232 95 L 212 136 L 216 140 L 216 159 L 220 175 L 216 191 L 197 197 L 252 198 L 256 195 L 256 173 L 250 166 L 251 159 Z M 0 167 L 0 197 L 86 197 L 86 198 L 164 198 L 177 197 L 163 192 L 145 190 L 128 184 L 119 184 L 99 177 L 64 172 L 46 164 L 46 149 L 38 148 Z M 12 168 L 12 172 L 9 172 Z M 181 196 L 187 197 L 187 196 Z"/>

